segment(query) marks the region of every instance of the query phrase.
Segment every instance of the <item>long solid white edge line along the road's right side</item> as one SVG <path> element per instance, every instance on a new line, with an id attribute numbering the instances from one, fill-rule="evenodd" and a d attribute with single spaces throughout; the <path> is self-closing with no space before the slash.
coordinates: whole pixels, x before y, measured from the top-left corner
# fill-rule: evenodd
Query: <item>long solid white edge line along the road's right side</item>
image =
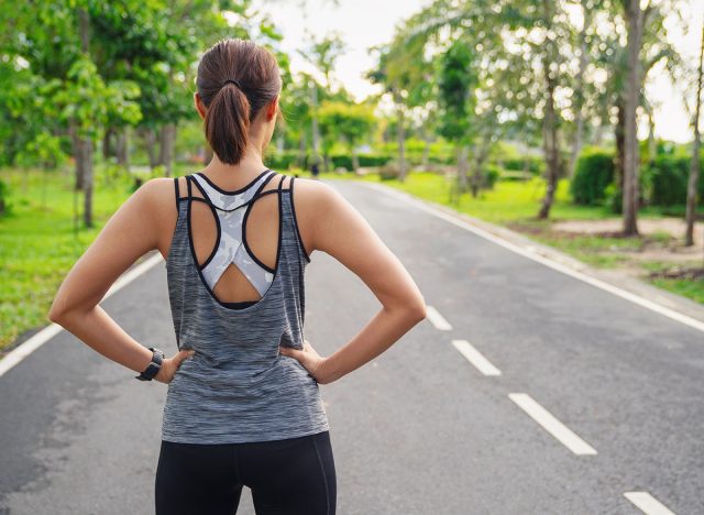
<path id="1" fill-rule="evenodd" d="M 373 184 L 373 183 L 362 183 L 365 184 L 372 188 L 378 188 L 382 191 L 385 191 L 388 195 L 395 196 L 396 198 L 398 198 L 402 201 L 405 201 L 407 204 L 410 204 L 413 206 L 416 206 L 419 209 L 422 209 L 426 212 L 429 212 L 438 218 L 442 218 L 446 221 L 449 221 L 450 223 L 453 223 L 458 227 L 461 227 L 462 229 L 465 229 L 470 232 L 473 232 L 474 234 L 484 238 L 485 240 L 488 240 L 493 243 L 496 243 L 497 245 L 501 245 L 505 249 L 510 250 L 512 252 L 515 252 L 516 254 L 520 254 L 524 258 L 528 258 L 532 261 L 536 261 L 538 263 L 541 263 L 552 270 L 556 270 L 558 272 L 561 272 L 565 275 L 569 275 L 571 277 L 574 277 L 576 280 L 580 280 L 584 283 L 591 284 L 592 286 L 595 286 L 597 288 L 604 289 L 605 292 L 608 292 L 613 295 L 616 295 L 617 297 L 622 297 L 625 298 L 626 300 L 630 300 L 634 304 L 637 304 L 639 306 L 642 306 L 647 309 L 650 309 L 651 311 L 656 311 L 660 315 L 663 315 L 668 318 L 671 318 L 672 320 L 676 320 L 681 324 L 684 324 L 685 326 L 690 326 L 694 329 L 697 329 L 700 331 L 704 332 L 704 321 L 702 320 L 697 320 L 696 318 L 690 317 L 688 315 L 684 315 L 682 313 L 675 311 L 674 309 L 671 309 L 669 307 L 662 306 L 660 304 L 653 303 L 652 300 L 648 300 L 645 297 L 641 297 L 640 295 L 636 295 L 634 293 L 627 292 L 626 289 L 619 288 L 618 286 L 614 286 L 612 284 L 605 283 L 604 281 L 601 281 L 596 277 L 592 277 L 583 272 L 579 272 L 576 270 L 573 270 L 562 263 L 558 263 L 557 261 L 553 261 L 549 258 L 546 258 L 543 255 L 538 254 L 535 250 L 529 250 L 529 249 L 524 249 L 515 243 L 512 243 L 507 240 L 504 240 L 501 237 L 497 237 L 495 234 L 492 234 L 491 232 L 484 230 L 484 229 L 480 229 L 479 227 L 474 227 L 473 224 L 458 219 L 455 217 L 453 217 L 452 215 L 442 212 L 441 210 L 426 205 L 420 200 L 417 200 L 413 197 L 410 197 L 408 194 L 402 194 L 402 191 L 396 191 L 394 189 L 391 189 L 391 186 L 383 186 L 383 185 L 377 185 L 377 184 Z"/>

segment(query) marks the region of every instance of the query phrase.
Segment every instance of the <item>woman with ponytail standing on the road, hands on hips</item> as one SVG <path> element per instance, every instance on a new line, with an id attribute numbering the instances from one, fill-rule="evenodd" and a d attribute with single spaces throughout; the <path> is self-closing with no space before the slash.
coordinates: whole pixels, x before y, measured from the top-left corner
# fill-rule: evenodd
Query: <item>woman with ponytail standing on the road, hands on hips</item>
<path id="1" fill-rule="evenodd" d="M 404 266 L 334 188 L 264 166 L 280 89 L 264 47 L 223 40 L 209 48 L 194 100 L 212 161 L 140 187 L 72 269 L 50 313 L 138 379 L 168 384 L 157 515 L 230 515 L 243 485 L 257 514 L 333 514 L 336 469 L 318 385 L 367 363 L 426 316 Z M 98 306 L 151 250 L 166 259 L 179 349 L 170 358 L 130 338 Z M 329 357 L 302 336 L 304 272 L 316 250 L 359 275 L 383 305 Z"/>

